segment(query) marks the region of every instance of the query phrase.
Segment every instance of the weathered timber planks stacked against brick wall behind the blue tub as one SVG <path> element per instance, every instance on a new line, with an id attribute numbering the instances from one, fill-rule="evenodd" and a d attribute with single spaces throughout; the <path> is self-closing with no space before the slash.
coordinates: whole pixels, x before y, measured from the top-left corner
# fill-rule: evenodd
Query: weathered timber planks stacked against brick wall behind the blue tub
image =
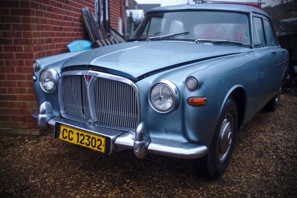
<path id="1" fill-rule="evenodd" d="M 83 19 L 83 23 L 87 29 L 90 40 L 93 43 L 91 45 L 92 48 L 127 42 L 126 39 L 118 33 L 118 31 L 111 27 L 111 36 L 107 38 L 104 27 L 101 25 L 99 28 L 93 13 L 89 11 L 88 7 L 83 7 L 82 13 L 81 18 Z"/>

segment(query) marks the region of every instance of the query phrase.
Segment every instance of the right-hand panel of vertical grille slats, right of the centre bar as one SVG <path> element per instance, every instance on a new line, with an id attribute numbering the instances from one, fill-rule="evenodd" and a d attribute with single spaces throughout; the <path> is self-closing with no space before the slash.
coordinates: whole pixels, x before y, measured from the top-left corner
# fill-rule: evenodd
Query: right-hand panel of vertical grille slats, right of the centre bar
<path id="1" fill-rule="evenodd" d="M 136 94 L 129 84 L 98 78 L 95 94 L 98 123 L 136 128 Z"/>

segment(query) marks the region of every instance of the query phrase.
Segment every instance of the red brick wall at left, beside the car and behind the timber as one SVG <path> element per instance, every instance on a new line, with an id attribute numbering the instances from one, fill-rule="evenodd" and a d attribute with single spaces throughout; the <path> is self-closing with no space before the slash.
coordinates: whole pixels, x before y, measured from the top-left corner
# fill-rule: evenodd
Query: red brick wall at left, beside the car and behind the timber
<path id="1" fill-rule="evenodd" d="M 110 1 L 111 26 L 116 29 L 120 1 Z M 29 116 L 38 108 L 32 61 L 69 52 L 66 45 L 74 40 L 89 40 L 80 19 L 83 6 L 94 13 L 94 0 L 0 1 L 0 132 L 37 131 Z"/>

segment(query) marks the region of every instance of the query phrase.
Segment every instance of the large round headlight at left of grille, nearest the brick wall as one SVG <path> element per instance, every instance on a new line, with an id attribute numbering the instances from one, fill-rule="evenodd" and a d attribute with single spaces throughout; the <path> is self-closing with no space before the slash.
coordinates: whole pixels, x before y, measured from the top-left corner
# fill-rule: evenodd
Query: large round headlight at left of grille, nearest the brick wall
<path id="1" fill-rule="evenodd" d="M 57 78 L 57 76 L 58 76 L 57 71 L 52 67 L 48 67 L 41 72 L 39 77 L 39 84 L 43 89 L 43 91 L 48 93 L 54 92 L 56 87 L 55 77 Z"/>

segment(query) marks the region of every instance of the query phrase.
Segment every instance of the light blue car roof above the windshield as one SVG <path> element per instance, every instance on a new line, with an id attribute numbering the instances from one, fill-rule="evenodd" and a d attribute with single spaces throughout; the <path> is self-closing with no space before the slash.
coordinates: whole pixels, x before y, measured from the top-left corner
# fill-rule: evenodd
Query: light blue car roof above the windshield
<path id="1" fill-rule="evenodd" d="M 268 16 L 266 12 L 264 12 L 259 8 L 256 8 L 253 6 L 247 6 L 247 5 L 231 4 L 231 3 L 224 3 L 224 4 L 223 3 L 198 3 L 198 4 L 155 7 L 147 11 L 147 14 L 149 14 L 150 12 L 157 12 L 157 11 L 171 11 L 171 10 L 185 10 L 185 9 L 222 9 L 222 10 L 248 11 L 248 12 L 256 12 L 256 13 Z"/>

